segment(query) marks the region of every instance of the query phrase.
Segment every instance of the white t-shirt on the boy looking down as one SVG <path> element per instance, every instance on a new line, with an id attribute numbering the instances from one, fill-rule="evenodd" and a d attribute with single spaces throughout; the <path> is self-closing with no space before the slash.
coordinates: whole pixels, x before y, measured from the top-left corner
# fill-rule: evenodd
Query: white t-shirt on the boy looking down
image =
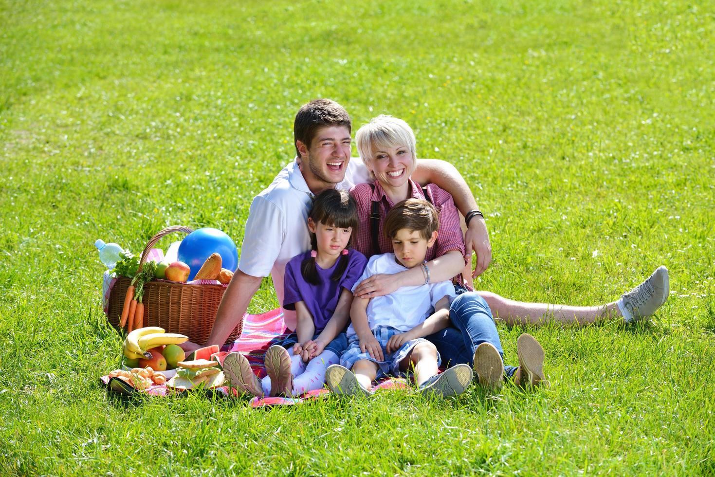
<path id="1" fill-rule="evenodd" d="M 350 291 L 355 292 L 355 288 L 360 282 L 378 273 L 393 274 L 404 270 L 408 270 L 408 268 L 395 259 L 394 253 L 373 255 L 365 267 L 363 276 L 355 282 Z M 383 325 L 391 326 L 402 332 L 409 331 L 434 313 L 435 305 L 445 296 L 450 297 L 450 302 L 457 296 L 454 285 L 449 280 L 417 287 L 400 287 L 389 295 L 374 297 L 368 303 L 366 310 L 370 330 Z M 350 324 L 350 327 L 347 328 L 347 337 L 350 338 L 354 335 L 355 328 Z"/>

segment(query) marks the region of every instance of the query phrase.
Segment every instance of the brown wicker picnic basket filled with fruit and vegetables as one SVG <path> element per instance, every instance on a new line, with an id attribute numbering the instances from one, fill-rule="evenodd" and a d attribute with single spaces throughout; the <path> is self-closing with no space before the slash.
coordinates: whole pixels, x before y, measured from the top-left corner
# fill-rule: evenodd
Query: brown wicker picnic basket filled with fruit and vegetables
<path id="1" fill-rule="evenodd" d="M 147 255 L 159 240 L 173 232 L 193 232 L 189 227 L 173 225 L 167 227 L 149 240 L 144 247 L 139 260 L 139 270 L 142 270 Z M 119 277 L 109 293 L 109 324 L 119 330 L 119 316 L 122 315 L 124 297 L 132 282 L 127 277 Z M 167 333 L 181 333 L 189 340 L 204 344 L 209 338 L 216 320 L 216 313 L 221 298 L 226 290 L 225 285 L 189 285 L 179 282 L 164 282 L 153 280 L 144 285 L 144 326 L 160 326 Z M 227 342 L 240 337 L 243 329 L 243 318 L 229 335 Z"/>

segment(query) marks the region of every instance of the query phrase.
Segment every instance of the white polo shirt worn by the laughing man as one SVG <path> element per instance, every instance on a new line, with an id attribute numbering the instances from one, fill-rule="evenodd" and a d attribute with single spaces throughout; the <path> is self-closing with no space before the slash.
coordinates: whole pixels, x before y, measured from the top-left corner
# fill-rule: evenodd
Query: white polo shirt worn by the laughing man
<path id="1" fill-rule="evenodd" d="M 359 157 L 347 163 L 339 189 L 368 182 L 368 169 Z M 295 160 L 275 177 L 271 185 L 251 203 L 241 247 L 239 269 L 254 277 L 273 279 L 278 304 L 283 305 L 285 264 L 295 255 L 310 250 L 307 219 L 312 192 Z M 295 330 L 295 311 L 283 310 L 285 324 Z"/>

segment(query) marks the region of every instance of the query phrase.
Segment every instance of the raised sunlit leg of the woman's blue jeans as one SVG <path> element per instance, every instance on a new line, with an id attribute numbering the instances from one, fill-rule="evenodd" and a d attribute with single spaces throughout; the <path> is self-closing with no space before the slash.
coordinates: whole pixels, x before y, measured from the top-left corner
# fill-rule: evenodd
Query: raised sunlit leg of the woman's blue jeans
<path id="1" fill-rule="evenodd" d="M 452 324 L 462 333 L 462 339 L 470 353 L 470 360 L 473 359 L 474 351 L 481 343 L 491 343 L 504 359 L 504 350 L 501 348 L 501 340 L 491 310 L 478 293 L 465 292 L 458 295 L 450 306 L 449 316 Z M 513 366 L 504 366 L 504 373 L 508 376 L 513 375 L 515 371 L 516 368 Z"/>

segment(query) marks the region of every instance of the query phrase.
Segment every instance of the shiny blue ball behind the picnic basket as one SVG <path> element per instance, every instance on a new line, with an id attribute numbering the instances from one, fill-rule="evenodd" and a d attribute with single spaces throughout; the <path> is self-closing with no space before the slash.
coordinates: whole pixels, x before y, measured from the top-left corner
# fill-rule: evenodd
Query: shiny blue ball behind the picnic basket
<path id="1" fill-rule="evenodd" d="M 194 277 L 212 253 L 221 255 L 221 267 L 236 271 L 238 267 L 238 250 L 231 237 L 218 229 L 206 227 L 194 230 L 184 237 L 179 245 L 178 260 L 189 265 L 191 273 L 189 280 Z"/>

